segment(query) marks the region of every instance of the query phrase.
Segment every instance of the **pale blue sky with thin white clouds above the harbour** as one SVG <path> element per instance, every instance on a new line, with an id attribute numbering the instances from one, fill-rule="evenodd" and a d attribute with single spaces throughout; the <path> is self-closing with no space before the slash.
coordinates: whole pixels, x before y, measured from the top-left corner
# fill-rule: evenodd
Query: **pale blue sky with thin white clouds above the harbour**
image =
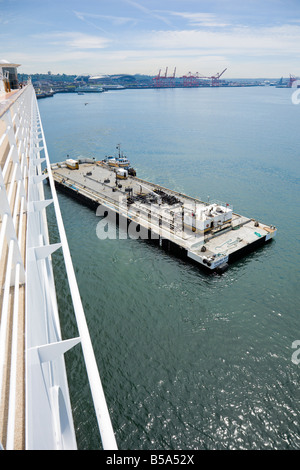
<path id="1" fill-rule="evenodd" d="M 0 0 L 22 73 L 300 75 L 300 0 Z"/>

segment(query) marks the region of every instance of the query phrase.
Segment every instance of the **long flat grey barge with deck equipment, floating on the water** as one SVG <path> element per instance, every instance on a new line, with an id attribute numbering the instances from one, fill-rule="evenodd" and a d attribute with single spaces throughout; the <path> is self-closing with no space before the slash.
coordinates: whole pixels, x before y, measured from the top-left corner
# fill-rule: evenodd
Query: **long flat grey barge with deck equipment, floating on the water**
<path id="1" fill-rule="evenodd" d="M 97 210 L 102 217 L 99 238 L 111 234 L 104 231 L 105 224 L 125 220 L 130 237 L 156 240 L 187 260 L 222 273 L 230 262 L 276 235 L 276 227 L 236 214 L 230 204 L 203 202 L 142 180 L 131 168 L 109 165 L 107 158 L 77 161 L 72 166 L 53 164 L 53 178 L 58 189 Z"/>

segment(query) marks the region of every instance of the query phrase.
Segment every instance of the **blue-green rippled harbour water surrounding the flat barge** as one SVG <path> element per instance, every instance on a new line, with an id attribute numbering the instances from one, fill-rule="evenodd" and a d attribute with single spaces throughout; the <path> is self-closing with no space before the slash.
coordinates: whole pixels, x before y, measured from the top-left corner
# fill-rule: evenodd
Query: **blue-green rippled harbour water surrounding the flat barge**
<path id="1" fill-rule="evenodd" d="M 278 227 L 270 245 L 213 276 L 140 240 L 100 241 L 95 213 L 59 193 L 119 448 L 299 449 L 300 106 L 291 90 L 61 94 L 39 107 L 52 162 L 102 159 L 121 143 L 139 177 Z M 71 298 L 53 257 L 69 338 Z M 66 360 L 78 447 L 97 449 L 80 348 Z"/>

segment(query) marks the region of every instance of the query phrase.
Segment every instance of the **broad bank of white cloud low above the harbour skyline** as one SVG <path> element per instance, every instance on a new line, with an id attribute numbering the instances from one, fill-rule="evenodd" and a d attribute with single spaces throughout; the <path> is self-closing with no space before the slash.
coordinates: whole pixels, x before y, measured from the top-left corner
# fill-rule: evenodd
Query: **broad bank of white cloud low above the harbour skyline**
<path id="1" fill-rule="evenodd" d="M 260 26 L 259 23 L 243 26 L 233 25 L 233 21 L 226 23 L 231 19 L 212 13 L 150 11 L 137 1 L 127 0 L 126 3 L 142 11 L 143 15 L 134 19 L 130 13 L 126 16 L 127 11 L 124 16 L 114 15 L 113 10 L 109 12 L 111 15 L 76 11 L 76 26 L 71 31 L 24 36 L 23 43 L 17 45 L 12 38 L 9 51 L 15 54 L 10 52 L 10 56 L 19 57 L 17 62 L 23 63 L 27 70 L 31 64 L 34 68 L 40 66 L 47 70 L 49 67 L 52 71 L 65 73 L 154 75 L 160 68 L 164 71 L 168 66 L 169 74 L 176 67 L 177 76 L 189 71 L 212 75 L 225 67 L 228 70 L 224 78 L 274 77 L 290 71 L 299 75 L 300 20 L 276 26 Z M 132 28 L 134 24 L 149 26 L 145 16 L 161 20 L 159 26 L 156 21 L 151 23 L 150 31 Z M 167 23 L 167 18 L 177 24 L 177 30 L 174 25 L 166 27 L 162 24 Z M 100 31 L 87 29 L 82 21 L 89 26 L 92 25 L 90 21 L 94 21 L 92 26 Z M 110 31 L 104 31 L 102 24 L 109 25 Z M 126 33 L 121 26 L 127 26 Z M 82 31 L 95 34 L 79 32 L 80 27 L 83 27 Z M 29 56 L 26 53 L 30 46 L 32 54 Z M 20 58 L 22 52 L 24 60 Z"/>

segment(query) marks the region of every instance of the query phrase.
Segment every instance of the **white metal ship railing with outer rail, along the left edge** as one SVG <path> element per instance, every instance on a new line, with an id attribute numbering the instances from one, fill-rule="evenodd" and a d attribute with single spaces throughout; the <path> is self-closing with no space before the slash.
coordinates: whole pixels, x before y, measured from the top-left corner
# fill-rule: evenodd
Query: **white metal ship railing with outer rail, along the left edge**
<path id="1" fill-rule="evenodd" d="M 0 157 L 0 273 L 4 280 L 0 317 L 0 443 L 5 449 L 22 447 L 16 444 L 19 438 L 16 423 L 23 362 L 19 342 L 24 319 L 20 312 L 25 296 L 25 448 L 77 448 L 64 353 L 81 343 L 102 447 L 117 449 L 31 84 L 18 92 L 0 114 Z M 46 164 L 46 175 L 42 164 Z M 44 198 L 46 177 L 52 193 L 50 200 Z M 60 243 L 52 245 L 45 210 L 49 204 L 54 206 L 60 236 Z M 79 331 L 78 338 L 67 340 L 61 337 L 51 260 L 51 254 L 60 248 Z"/>

